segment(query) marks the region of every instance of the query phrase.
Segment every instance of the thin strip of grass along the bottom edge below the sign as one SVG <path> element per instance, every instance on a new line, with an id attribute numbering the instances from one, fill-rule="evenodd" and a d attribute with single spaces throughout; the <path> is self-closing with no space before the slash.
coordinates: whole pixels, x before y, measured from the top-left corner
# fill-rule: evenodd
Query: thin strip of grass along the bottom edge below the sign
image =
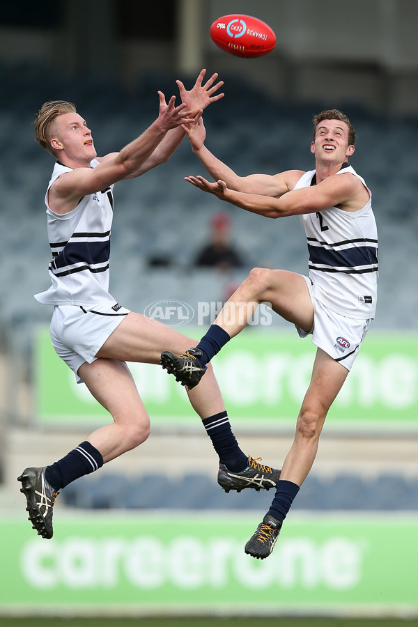
<path id="1" fill-rule="evenodd" d="M 348 618 L 11 618 L 0 617 L 3 627 L 418 627 L 418 619 Z"/>

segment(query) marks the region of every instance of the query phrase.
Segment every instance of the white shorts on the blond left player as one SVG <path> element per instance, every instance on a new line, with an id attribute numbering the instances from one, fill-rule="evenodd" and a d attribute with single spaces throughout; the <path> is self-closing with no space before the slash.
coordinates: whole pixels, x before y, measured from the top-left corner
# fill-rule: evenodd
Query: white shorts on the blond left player
<path id="1" fill-rule="evenodd" d="M 130 309 L 116 303 L 96 304 L 84 308 L 77 305 L 56 305 L 52 314 L 50 334 L 56 354 L 75 373 L 77 383 L 82 383 L 77 371 L 82 364 L 97 359 L 98 350 L 109 335 L 125 320 Z"/>

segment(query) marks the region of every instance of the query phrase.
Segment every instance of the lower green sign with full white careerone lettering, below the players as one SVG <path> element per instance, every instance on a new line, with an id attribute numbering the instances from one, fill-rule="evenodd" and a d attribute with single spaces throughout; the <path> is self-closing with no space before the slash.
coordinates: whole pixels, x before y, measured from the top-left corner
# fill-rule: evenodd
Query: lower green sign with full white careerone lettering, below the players
<path id="1" fill-rule="evenodd" d="M 54 539 L 0 521 L 0 611 L 418 613 L 417 516 L 292 515 L 272 555 L 231 513 L 56 512 Z"/>

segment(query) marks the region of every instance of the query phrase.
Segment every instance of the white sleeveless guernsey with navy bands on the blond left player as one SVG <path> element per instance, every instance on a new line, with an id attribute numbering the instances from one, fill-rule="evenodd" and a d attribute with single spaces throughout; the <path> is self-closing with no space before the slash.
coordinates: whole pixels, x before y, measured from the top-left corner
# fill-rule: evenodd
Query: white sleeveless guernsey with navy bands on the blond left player
<path id="1" fill-rule="evenodd" d="M 97 160 L 91 162 L 94 168 Z M 84 196 L 72 211 L 59 215 L 48 205 L 52 183 L 71 168 L 56 162 L 49 181 L 45 204 L 52 261 L 49 276 L 52 286 L 35 295 L 36 300 L 52 305 L 93 305 L 111 302 L 109 294 L 110 231 L 113 219 L 113 185 Z"/>

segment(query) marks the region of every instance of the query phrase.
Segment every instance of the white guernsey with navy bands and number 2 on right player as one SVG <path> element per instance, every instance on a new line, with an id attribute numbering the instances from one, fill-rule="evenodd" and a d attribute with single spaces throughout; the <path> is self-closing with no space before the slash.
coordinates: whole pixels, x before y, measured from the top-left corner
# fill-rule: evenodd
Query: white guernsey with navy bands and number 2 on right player
<path id="1" fill-rule="evenodd" d="M 309 187 L 316 171 L 305 172 L 294 189 Z M 371 191 L 353 167 L 336 176 L 354 174 L 369 191 L 369 202 L 359 211 L 330 207 L 300 215 L 309 250 L 309 278 L 316 298 L 338 314 L 373 318 L 378 284 L 378 231 L 371 209 Z"/>

